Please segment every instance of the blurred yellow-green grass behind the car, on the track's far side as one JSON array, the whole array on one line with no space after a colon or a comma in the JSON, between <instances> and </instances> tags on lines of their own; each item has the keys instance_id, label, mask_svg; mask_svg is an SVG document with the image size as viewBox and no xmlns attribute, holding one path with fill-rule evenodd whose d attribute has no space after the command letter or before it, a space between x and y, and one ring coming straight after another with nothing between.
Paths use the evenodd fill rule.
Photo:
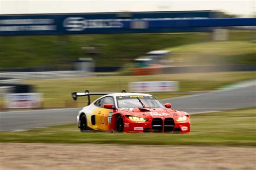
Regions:
<instances>
[{"instance_id":1,"label":"blurred yellow-green grass behind the car, on the track's far side","mask_svg":"<svg viewBox=\"0 0 256 170\"><path fill-rule=\"evenodd\" d=\"M86 97L79 97L77 101L73 101L71 98L72 91L118 92L122 89L129 91L129 82L132 81L179 81L180 91L178 93L151 93L157 98L163 99L185 95L186 91L214 90L238 81L255 79L255 77L256 72L219 72L27 80L24 83L34 84L37 92L43 93L45 108L63 108L83 107L85 105ZM119 80L121 82L120 88ZM92 97L92 100L95 99L96 97Z\"/></svg>"}]
</instances>

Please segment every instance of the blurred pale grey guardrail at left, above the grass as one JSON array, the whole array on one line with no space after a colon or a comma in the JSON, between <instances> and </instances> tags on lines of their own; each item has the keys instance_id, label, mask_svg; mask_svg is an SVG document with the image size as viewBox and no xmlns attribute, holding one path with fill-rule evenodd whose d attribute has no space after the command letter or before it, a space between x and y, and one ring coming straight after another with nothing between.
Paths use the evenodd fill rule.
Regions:
<instances>
[{"instance_id":1,"label":"blurred pale grey guardrail at left, above the grass","mask_svg":"<svg viewBox=\"0 0 256 170\"><path fill-rule=\"evenodd\" d=\"M86 77L86 76L90 76L90 74L84 71L0 73L0 77L7 77L11 79L53 79L53 78Z\"/></svg>"}]
</instances>

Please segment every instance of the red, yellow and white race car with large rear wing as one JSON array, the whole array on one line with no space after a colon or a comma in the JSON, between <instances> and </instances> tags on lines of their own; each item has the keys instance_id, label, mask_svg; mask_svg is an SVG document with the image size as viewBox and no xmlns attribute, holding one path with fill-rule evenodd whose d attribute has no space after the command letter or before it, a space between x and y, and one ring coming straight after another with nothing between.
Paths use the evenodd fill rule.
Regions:
<instances>
[{"instance_id":1,"label":"red, yellow and white race car with large rear wing","mask_svg":"<svg viewBox=\"0 0 256 170\"><path fill-rule=\"evenodd\" d=\"M90 103L91 95L100 95ZM163 132L190 133L190 115L170 109L156 97L142 93L72 93L73 100L87 96L87 106L79 111L77 124L81 132Z\"/></svg>"}]
</instances>

